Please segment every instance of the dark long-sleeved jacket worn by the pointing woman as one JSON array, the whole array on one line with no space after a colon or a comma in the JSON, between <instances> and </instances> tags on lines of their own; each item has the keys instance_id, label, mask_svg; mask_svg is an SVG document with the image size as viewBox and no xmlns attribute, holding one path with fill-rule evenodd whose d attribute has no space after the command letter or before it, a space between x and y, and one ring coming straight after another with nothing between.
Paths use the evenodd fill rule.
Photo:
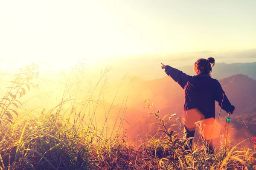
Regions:
<instances>
[{"instance_id":1,"label":"dark long-sleeved jacket worn by the pointing woman","mask_svg":"<svg viewBox=\"0 0 256 170\"><path fill-rule=\"evenodd\" d=\"M221 84L209 74L189 76L169 65L166 65L165 72L185 90L184 118L188 117L187 111L193 108L198 109L205 119L215 118L215 100L224 111L233 113L235 110Z\"/></svg>"}]
</instances>

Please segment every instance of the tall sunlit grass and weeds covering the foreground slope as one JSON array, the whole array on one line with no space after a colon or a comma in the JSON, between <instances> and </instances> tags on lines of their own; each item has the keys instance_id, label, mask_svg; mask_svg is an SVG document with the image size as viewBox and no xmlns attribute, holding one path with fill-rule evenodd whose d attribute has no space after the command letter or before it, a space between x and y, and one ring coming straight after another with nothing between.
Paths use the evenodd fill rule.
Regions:
<instances>
[{"instance_id":1,"label":"tall sunlit grass and weeds covering the foreground slope","mask_svg":"<svg viewBox=\"0 0 256 170\"><path fill-rule=\"evenodd\" d=\"M90 84L87 95L81 97L81 82L85 81L86 75L78 65L71 76L61 82L64 90L60 93L59 104L50 109L43 108L36 116L31 113L23 120L18 118L24 103L17 97L26 95L31 87L38 88L33 83L38 78L38 66L32 64L20 70L1 101L0 170L219 170L253 169L255 166L256 153L253 153L253 147L242 145L243 142L231 146L230 141L224 159L223 146L215 148L215 155L209 155L206 144L199 141L185 150L189 139L184 137L180 118L176 114L162 117L160 111L154 110L150 114L157 122L152 126L158 125L157 131L162 135L141 140L136 147L128 141L123 130L128 94L122 100L116 119L112 125L110 123L111 109L120 87L128 80L126 75L113 94L110 108L105 107L104 113L97 114L99 105L104 105L102 99L108 86L109 71L110 67L102 70L98 81ZM154 103L145 102L146 107L154 108ZM27 108L26 113L29 111ZM103 120L99 123L97 116L100 115Z\"/></svg>"}]
</instances>

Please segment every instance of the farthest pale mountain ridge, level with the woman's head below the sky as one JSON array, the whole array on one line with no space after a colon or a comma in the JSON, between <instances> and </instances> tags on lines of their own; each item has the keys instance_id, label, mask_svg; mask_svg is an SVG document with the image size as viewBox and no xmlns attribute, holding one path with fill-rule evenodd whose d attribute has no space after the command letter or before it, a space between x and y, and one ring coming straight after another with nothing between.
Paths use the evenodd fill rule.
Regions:
<instances>
[{"instance_id":1,"label":"farthest pale mountain ridge, level with the woman's head below the sky","mask_svg":"<svg viewBox=\"0 0 256 170\"><path fill-rule=\"evenodd\" d=\"M140 60L139 60L140 61ZM134 61L133 64L130 62L127 63L120 63L120 65L113 67L113 75L114 77L122 77L123 74L129 73L129 76L136 76L140 77L143 80L154 80L158 78L163 78L165 74L161 69L161 64L158 60L151 61L149 60L146 63ZM196 60L195 60L196 61ZM166 60L163 61L165 65L171 65L174 68L177 68L188 75L195 75L194 66L193 64L195 61L191 61L190 65L184 67L176 67L172 65L171 61ZM159 62L159 63L158 63ZM184 63L183 65L186 65ZM215 63L215 66L212 68L212 77L215 79L224 79L226 77L232 76L234 74L244 74L248 75L249 77L256 79L256 62L248 62L248 63Z\"/></svg>"}]
</instances>

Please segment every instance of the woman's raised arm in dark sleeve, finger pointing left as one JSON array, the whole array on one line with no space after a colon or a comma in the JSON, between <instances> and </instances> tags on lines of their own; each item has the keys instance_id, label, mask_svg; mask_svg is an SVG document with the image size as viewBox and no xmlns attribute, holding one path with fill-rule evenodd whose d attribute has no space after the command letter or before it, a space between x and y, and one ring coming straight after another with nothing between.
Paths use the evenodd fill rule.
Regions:
<instances>
[{"instance_id":1,"label":"woman's raised arm in dark sleeve, finger pointing left","mask_svg":"<svg viewBox=\"0 0 256 170\"><path fill-rule=\"evenodd\" d=\"M174 81L177 82L183 89L185 88L185 85L192 77L192 76L189 76L189 75L183 73L182 71L180 71L176 68L172 68L169 65L162 64L162 69L165 69L166 74L168 76L172 77L172 79L174 79Z\"/></svg>"}]
</instances>

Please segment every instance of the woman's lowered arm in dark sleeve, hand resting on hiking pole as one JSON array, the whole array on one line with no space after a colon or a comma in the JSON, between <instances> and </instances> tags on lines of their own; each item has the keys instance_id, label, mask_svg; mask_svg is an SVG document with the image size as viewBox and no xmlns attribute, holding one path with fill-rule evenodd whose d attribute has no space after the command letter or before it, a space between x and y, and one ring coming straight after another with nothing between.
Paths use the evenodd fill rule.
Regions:
<instances>
[{"instance_id":1,"label":"woman's lowered arm in dark sleeve, hand resting on hiking pole","mask_svg":"<svg viewBox=\"0 0 256 170\"><path fill-rule=\"evenodd\" d=\"M216 80L217 89L215 91L215 100L218 102L218 105L227 113L233 113L235 106L231 105L230 101L227 99L226 94L221 87L221 84ZM224 96L223 96L224 95Z\"/></svg>"}]
</instances>

